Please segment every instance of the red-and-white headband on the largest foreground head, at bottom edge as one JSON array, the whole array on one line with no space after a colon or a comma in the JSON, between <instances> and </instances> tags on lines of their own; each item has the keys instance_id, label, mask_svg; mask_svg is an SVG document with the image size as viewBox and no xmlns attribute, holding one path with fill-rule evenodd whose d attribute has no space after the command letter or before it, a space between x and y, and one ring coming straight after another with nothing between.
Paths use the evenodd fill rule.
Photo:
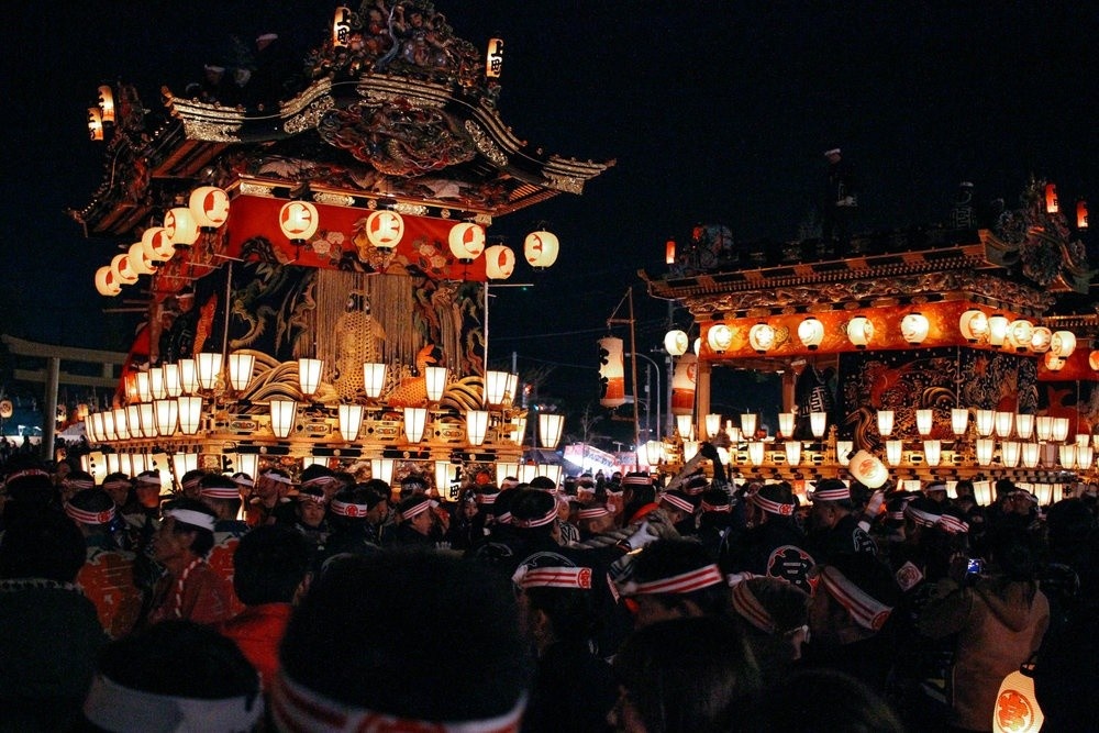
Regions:
<instances>
[{"instance_id":1,"label":"red-and-white headband on the largest foreground head, at bottom edge","mask_svg":"<svg viewBox=\"0 0 1099 733\"><path fill-rule=\"evenodd\" d=\"M411 720L338 702L295 682L282 670L271 685L271 717L280 731L346 733L518 733L526 696L502 715L487 720Z\"/></svg>"}]
</instances>

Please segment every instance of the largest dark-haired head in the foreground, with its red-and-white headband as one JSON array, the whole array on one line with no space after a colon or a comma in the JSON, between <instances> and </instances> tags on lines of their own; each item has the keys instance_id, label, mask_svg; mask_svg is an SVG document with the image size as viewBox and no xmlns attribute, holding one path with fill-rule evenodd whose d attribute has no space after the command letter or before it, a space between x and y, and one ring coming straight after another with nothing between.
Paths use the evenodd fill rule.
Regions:
<instances>
[{"instance_id":1,"label":"largest dark-haired head in the foreground, with its red-and-white headband","mask_svg":"<svg viewBox=\"0 0 1099 733\"><path fill-rule=\"evenodd\" d=\"M290 618L279 658L271 719L288 732L515 733L533 671L499 576L413 549L333 562Z\"/></svg>"}]
</instances>

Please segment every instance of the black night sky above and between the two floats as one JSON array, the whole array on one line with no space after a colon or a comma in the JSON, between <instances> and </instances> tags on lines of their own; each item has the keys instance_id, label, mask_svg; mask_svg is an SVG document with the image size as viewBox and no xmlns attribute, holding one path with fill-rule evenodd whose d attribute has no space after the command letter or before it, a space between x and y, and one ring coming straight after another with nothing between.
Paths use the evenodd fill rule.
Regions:
<instances>
[{"instance_id":1,"label":"black night sky above and between the two floats","mask_svg":"<svg viewBox=\"0 0 1099 733\"><path fill-rule=\"evenodd\" d=\"M18 3L2 30L7 156L3 326L25 338L124 349L134 316L96 293L120 242L86 240L64 214L91 198L103 146L87 138L99 84L197 80L230 33L279 33L302 49L337 3L92 0ZM545 224L562 244L530 289L498 289L493 357L556 363L547 389L598 396L595 340L633 285L639 348L667 307L637 269L696 223L739 241L796 238L822 198L824 149L862 181L856 229L946 220L957 185L1009 206L1031 176L1099 208L1090 3L551 2L439 0L455 33L507 43L499 110L517 135L615 167L489 230L513 248ZM12 14L13 13L13 14ZM129 243L126 243L129 244ZM677 311L678 325L689 322ZM617 335L625 335L621 327ZM522 366L522 365L521 365ZM582 367L582 368L577 368Z\"/></svg>"}]
</instances>

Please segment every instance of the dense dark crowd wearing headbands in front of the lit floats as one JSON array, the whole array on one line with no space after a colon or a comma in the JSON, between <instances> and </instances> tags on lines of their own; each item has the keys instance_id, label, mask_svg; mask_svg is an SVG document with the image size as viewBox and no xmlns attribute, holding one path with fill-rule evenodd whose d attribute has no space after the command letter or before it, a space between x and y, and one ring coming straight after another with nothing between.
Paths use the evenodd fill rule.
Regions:
<instances>
[{"instance_id":1,"label":"dense dark crowd wearing headbands in front of the lit floats","mask_svg":"<svg viewBox=\"0 0 1099 733\"><path fill-rule=\"evenodd\" d=\"M1094 730L1095 487L9 462L0 729ZM998 699L998 696L1000 699ZM1036 730L1036 729L1035 729Z\"/></svg>"}]
</instances>

